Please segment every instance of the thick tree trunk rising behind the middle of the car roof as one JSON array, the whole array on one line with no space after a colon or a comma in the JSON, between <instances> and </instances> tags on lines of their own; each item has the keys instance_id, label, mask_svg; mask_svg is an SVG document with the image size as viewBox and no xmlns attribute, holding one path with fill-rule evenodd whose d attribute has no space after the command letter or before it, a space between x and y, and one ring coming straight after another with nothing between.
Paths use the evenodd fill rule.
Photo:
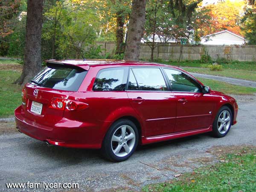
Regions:
<instances>
[{"instance_id":1,"label":"thick tree trunk rising behind the middle of the car roof","mask_svg":"<svg viewBox=\"0 0 256 192\"><path fill-rule=\"evenodd\" d=\"M143 37L146 0L133 0L128 26L125 60L139 60L140 40Z\"/></svg>"}]
</instances>

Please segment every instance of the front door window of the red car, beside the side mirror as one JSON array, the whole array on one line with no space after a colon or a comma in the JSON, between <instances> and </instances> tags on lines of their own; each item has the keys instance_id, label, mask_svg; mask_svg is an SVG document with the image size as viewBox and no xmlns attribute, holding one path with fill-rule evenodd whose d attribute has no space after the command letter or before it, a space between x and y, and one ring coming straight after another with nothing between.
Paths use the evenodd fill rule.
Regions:
<instances>
[{"instance_id":1,"label":"front door window of the red car, beside the side mirror","mask_svg":"<svg viewBox=\"0 0 256 192\"><path fill-rule=\"evenodd\" d=\"M177 70L164 69L171 83L172 91L201 92L197 81Z\"/></svg>"}]
</instances>

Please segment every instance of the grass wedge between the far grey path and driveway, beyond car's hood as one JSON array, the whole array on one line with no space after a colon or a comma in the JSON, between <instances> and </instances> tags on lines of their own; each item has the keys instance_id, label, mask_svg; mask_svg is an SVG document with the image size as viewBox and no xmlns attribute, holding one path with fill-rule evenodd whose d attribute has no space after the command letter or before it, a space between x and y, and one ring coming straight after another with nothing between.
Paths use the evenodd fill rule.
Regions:
<instances>
[{"instance_id":1,"label":"grass wedge between the far grey path and driveway, beyond car's hood","mask_svg":"<svg viewBox=\"0 0 256 192\"><path fill-rule=\"evenodd\" d=\"M198 80L204 85L209 86L212 90L220 91L225 94L252 95L256 93L256 88L253 87L243 87L212 79L198 78Z\"/></svg>"}]
</instances>

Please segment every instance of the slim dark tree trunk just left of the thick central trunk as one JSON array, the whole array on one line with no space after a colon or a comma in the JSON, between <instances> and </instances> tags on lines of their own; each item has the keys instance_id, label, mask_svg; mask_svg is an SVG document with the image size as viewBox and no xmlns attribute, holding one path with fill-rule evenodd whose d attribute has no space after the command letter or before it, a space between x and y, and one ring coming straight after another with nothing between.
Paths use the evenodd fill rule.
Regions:
<instances>
[{"instance_id":1,"label":"slim dark tree trunk just left of the thick central trunk","mask_svg":"<svg viewBox=\"0 0 256 192\"><path fill-rule=\"evenodd\" d=\"M116 17L116 54L124 52L124 20L122 18L122 12L117 13Z\"/></svg>"}]
</instances>

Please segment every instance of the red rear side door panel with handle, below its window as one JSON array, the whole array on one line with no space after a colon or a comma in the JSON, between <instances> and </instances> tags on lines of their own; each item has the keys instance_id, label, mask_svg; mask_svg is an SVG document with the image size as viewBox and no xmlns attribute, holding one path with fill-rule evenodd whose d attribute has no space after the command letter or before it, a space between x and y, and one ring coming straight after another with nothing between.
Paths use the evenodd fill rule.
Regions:
<instances>
[{"instance_id":1,"label":"red rear side door panel with handle, below its window","mask_svg":"<svg viewBox=\"0 0 256 192\"><path fill-rule=\"evenodd\" d=\"M173 133L175 128L176 101L169 91L128 91L131 106L141 117L145 127L144 136ZM133 99L143 98L142 102Z\"/></svg>"}]
</instances>

